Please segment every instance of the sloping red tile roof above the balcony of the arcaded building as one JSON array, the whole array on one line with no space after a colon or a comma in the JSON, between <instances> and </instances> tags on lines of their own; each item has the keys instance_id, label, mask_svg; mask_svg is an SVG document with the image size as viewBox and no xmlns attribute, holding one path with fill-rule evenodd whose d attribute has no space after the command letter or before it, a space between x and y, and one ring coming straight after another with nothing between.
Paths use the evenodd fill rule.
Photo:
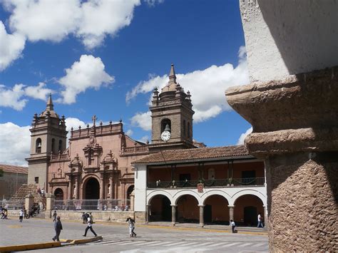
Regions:
<instances>
[{"instance_id":1,"label":"sloping red tile roof above the balcony of the arcaded building","mask_svg":"<svg viewBox=\"0 0 338 253\"><path fill-rule=\"evenodd\" d=\"M158 163L173 162L183 160L203 160L210 158L230 158L250 156L244 145L226 146L217 148L191 148L186 150L164 150L155 154L148 155L145 158L135 160L132 163ZM252 157L253 158L253 157Z\"/></svg>"}]
</instances>

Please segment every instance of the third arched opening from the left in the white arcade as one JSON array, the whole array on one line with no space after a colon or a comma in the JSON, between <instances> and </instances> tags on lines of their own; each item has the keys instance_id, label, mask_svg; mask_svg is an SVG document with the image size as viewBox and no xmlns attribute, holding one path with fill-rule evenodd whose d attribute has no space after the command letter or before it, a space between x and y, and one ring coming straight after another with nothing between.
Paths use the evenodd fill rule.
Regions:
<instances>
[{"instance_id":1,"label":"third arched opening from the left in the white arcade","mask_svg":"<svg viewBox=\"0 0 338 253\"><path fill-rule=\"evenodd\" d=\"M211 195L204 202L204 222L206 224L229 224L229 203L221 195Z\"/></svg>"}]
</instances>

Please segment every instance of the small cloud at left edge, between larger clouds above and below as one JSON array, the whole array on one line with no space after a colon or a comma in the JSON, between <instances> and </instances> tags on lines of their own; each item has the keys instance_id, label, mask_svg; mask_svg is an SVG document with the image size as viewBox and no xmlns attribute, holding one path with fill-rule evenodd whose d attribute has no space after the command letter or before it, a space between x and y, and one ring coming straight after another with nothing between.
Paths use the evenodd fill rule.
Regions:
<instances>
[{"instance_id":1,"label":"small cloud at left edge, between larger clouds above and below","mask_svg":"<svg viewBox=\"0 0 338 253\"><path fill-rule=\"evenodd\" d=\"M22 110L28 101L22 98L24 93L24 85L22 83L16 84L13 88L6 88L6 86L0 84L0 106Z\"/></svg>"}]
</instances>

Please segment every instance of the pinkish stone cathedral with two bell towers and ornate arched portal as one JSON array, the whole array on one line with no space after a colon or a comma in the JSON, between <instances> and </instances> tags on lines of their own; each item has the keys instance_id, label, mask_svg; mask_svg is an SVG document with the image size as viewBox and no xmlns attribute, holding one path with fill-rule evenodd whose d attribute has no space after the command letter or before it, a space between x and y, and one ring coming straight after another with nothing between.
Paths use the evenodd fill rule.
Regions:
<instances>
[{"instance_id":1,"label":"pinkish stone cathedral with two bell towers and ornate arched portal","mask_svg":"<svg viewBox=\"0 0 338 253\"><path fill-rule=\"evenodd\" d=\"M31 123L28 183L38 185L56 200L101 200L128 205L134 190L132 162L160 150L198 148L193 141L193 105L189 91L176 81L173 64L168 85L155 88L152 105L152 141L141 143L123 132L123 123L96 122L71 128L54 110L51 95L46 109ZM109 202L111 201L111 202ZM108 205L113 206L113 205Z\"/></svg>"}]
</instances>

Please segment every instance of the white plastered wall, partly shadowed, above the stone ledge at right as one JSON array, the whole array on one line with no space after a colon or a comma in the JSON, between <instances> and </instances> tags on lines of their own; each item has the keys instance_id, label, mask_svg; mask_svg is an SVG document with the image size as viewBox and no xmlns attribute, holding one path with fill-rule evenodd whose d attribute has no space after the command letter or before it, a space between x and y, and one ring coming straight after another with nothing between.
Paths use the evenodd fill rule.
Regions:
<instances>
[{"instance_id":1,"label":"white plastered wall, partly shadowed, above the stone ledge at right","mask_svg":"<svg viewBox=\"0 0 338 253\"><path fill-rule=\"evenodd\" d=\"M250 81L338 65L338 1L240 0Z\"/></svg>"}]
</instances>

